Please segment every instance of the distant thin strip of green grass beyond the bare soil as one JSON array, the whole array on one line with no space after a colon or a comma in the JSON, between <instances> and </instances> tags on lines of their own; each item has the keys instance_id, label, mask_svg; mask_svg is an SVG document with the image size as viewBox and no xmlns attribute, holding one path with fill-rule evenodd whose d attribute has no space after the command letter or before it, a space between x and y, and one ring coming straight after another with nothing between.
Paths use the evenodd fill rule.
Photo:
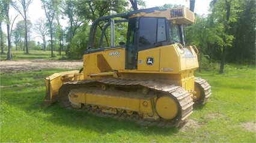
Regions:
<instances>
[{"instance_id":1,"label":"distant thin strip of green grass beyond the bare soil","mask_svg":"<svg viewBox=\"0 0 256 143\"><path fill-rule=\"evenodd\" d=\"M24 51L11 51L13 55L12 60L33 60L33 59L66 59L65 52L62 51L62 55L59 55L58 51L53 51L53 56L51 57L51 51L43 51L43 50L29 50L29 54L25 54ZM1 54L0 60L7 59L7 54Z\"/></svg>"}]
</instances>

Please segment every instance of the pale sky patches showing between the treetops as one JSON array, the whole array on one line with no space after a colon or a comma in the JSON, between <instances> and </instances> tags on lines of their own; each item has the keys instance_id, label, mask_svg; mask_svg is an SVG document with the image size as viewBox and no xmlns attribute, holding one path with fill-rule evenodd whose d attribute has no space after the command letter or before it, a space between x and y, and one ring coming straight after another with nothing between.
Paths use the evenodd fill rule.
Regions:
<instances>
[{"instance_id":1,"label":"pale sky patches showing between the treetops","mask_svg":"<svg viewBox=\"0 0 256 143\"><path fill-rule=\"evenodd\" d=\"M158 7L162 6L164 4L181 4L184 5L185 7L189 8L189 0L144 0L146 2L147 8L151 7ZM195 10L194 12L200 15L207 14L207 10L209 8L209 3L212 0L195 0ZM11 7L10 8L10 13L9 16L11 20L14 19L14 17L17 16L17 12ZM40 17L45 18L44 10L41 8L41 1L40 0L34 0L31 5L29 5L29 10L28 10L28 19L31 20L32 23L35 23L37 19ZM18 16L15 20L13 29L15 28L16 22L19 22L20 20L23 20L22 16ZM62 25L64 27L67 26L66 20L62 20ZM6 32L5 32L6 33ZM36 35L35 35L36 36ZM31 39L33 40L33 39ZM39 37L34 38L35 41L41 41Z\"/></svg>"}]
</instances>

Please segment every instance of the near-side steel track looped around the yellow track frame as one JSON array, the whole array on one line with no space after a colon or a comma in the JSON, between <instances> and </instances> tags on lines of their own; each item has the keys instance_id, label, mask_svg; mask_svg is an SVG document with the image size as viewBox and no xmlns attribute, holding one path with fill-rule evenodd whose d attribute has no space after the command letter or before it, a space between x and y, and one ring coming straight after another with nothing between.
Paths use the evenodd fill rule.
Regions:
<instances>
[{"instance_id":1,"label":"near-side steel track looped around the yellow track frame","mask_svg":"<svg viewBox=\"0 0 256 143\"><path fill-rule=\"evenodd\" d=\"M139 114L129 115L126 112L118 112L117 114L107 114L101 112L99 108L85 108L86 111L94 115L99 115L100 117L112 117L117 119L134 120L136 123L142 126L157 126L157 127L172 127L180 126L184 123L187 117L192 114L193 104L190 94L180 86L169 85L165 83L157 83L156 81L139 81L139 80L123 80L120 78L104 78L100 80L84 80L84 81L70 81L64 83L59 89L58 102L62 108L67 108L72 106L69 102L69 91L72 89L87 88L87 87L99 87L101 84L106 84L111 87L121 87L121 88L137 88L141 89L147 87L156 93L161 93L164 95L172 96L172 98L177 99L179 105L178 116L172 120L164 120L163 118L158 118L157 120L147 120L142 118ZM99 87L99 90L100 87Z\"/></svg>"}]
</instances>

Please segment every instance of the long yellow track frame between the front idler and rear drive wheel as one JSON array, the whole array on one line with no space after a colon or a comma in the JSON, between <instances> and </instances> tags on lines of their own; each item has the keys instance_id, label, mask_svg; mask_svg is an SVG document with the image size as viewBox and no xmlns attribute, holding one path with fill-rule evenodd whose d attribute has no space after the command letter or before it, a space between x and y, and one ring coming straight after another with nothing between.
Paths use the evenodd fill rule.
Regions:
<instances>
[{"instance_id":1,"label":"long yellow track frame between the front idler and rear drive wheel","mask_svg":"<svg viewBox=\"0 0 256 143\"><path fill-rule=\"evenodd\" d=\"M88 90L90 92L88 92ZM143 96L132 96L126 92L105 92L97 88L73 89L69 93L69 101L73 105L100 105L102 107L118 108L136 112L153 114L151 99Z\"/></svg>"}]
</instances>

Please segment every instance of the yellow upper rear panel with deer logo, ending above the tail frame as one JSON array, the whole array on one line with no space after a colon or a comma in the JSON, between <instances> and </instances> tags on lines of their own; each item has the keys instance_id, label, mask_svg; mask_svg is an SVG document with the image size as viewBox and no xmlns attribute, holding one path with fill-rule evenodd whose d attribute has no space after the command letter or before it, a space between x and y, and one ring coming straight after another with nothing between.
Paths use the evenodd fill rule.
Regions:
<instances>
[{"instance_id":1,"label":"yellow upper rear panel with deer logo, ending above the tail frame","mask_svg":"<svg viewBox=\"0 0 256 143\"><path fill-rule=\"evenodd\" d=\"M176 44L151 48L138 52L138 70L120 69L127 73L181 74L181 71L198 68L197 54L192 47L187 47L193 55L185 56L184 50ZM147 58L153 57L154 64L147 65ZM171 75L170 75L171 76Z\"/></svg>"}]
</instances>

